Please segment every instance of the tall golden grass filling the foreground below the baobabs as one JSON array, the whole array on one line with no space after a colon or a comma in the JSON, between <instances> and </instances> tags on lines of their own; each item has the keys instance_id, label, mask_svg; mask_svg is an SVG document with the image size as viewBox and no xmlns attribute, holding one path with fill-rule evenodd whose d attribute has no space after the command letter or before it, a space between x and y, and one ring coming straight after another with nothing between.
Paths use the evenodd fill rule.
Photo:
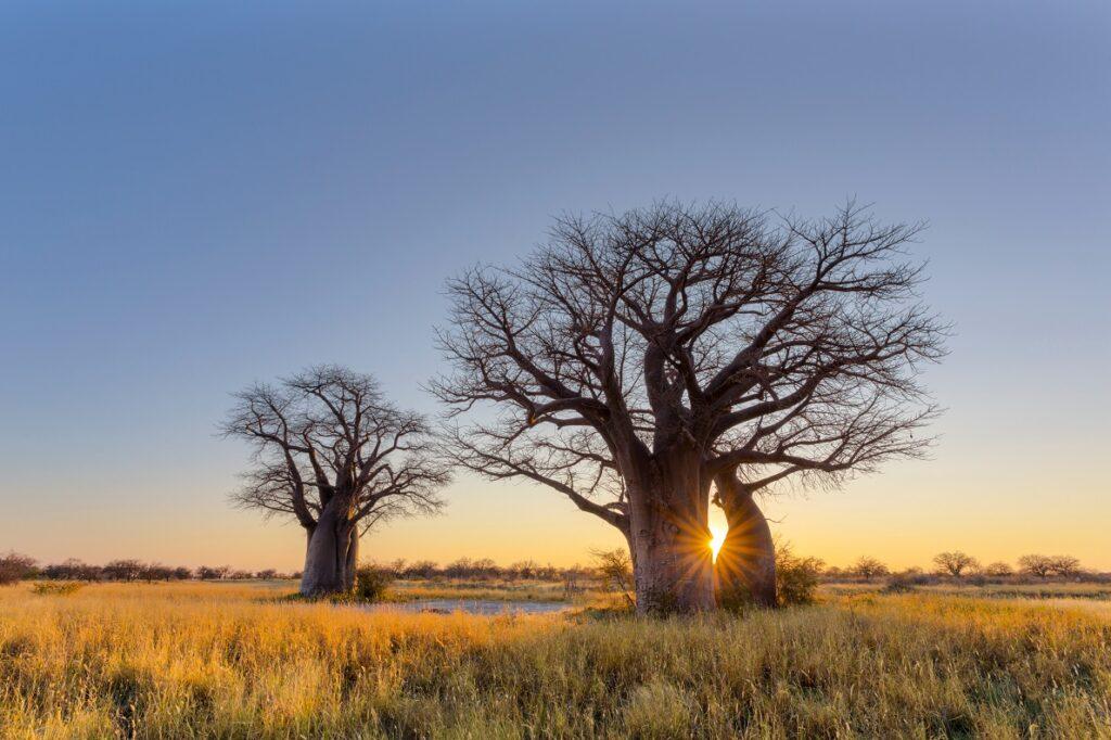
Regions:
<instances>
[{"instance_id":1,"label":"tall golden grass filling the foreground below the baobabs","mask_svg":"<svg viewBox=\"0 0 1111 740\"><path fill-rule=\"evenodd\" d=\"M2 737L1111 737L1111 613L861 594L742 618L368 614L0 589Z\"/></svg>"}]
</instances>

